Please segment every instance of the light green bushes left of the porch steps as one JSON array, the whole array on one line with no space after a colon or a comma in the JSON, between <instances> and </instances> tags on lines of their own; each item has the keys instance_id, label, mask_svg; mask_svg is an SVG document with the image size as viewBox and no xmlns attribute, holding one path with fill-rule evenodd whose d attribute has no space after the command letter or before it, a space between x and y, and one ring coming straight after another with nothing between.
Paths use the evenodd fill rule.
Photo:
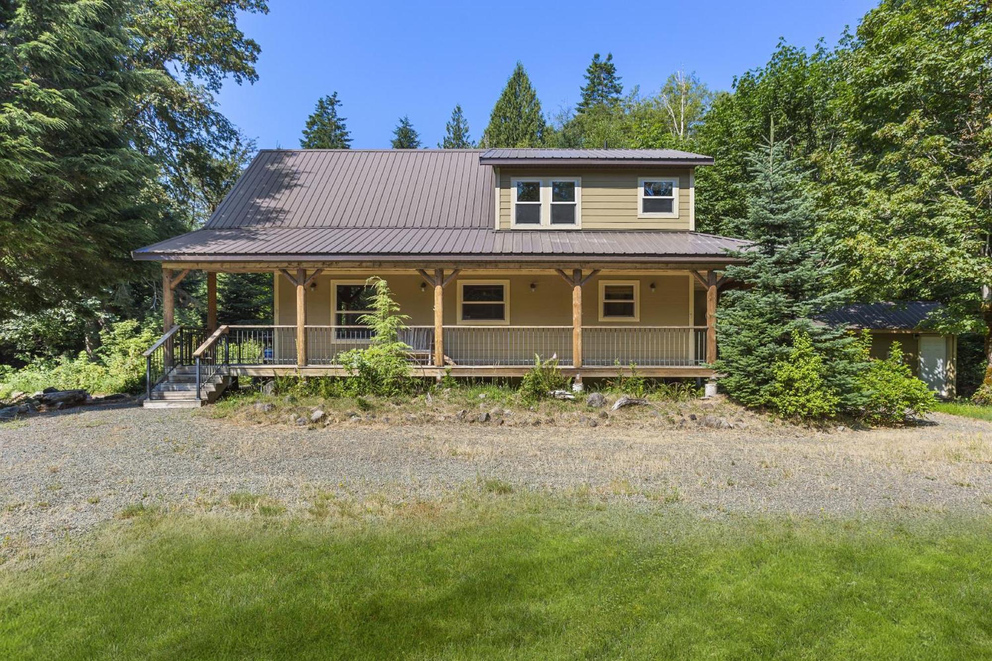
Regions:
<instances>
[{"instance_id":1,"label":"light green bushes left of the porch steps","mask_svg":"<svg viewBox=\"0 0 992 661\"><path fill-rule=\"evenodd\" d=\"M138 392L145 382L142 353L156 340L156 331L142 329L137 321L117 322L100 331L100 346L93 358L80 352L74 357L38 361L16 371L7 370L0 397L11 392L43 388L83 388L93 393Z\"/></svg>"}]
</instances>

